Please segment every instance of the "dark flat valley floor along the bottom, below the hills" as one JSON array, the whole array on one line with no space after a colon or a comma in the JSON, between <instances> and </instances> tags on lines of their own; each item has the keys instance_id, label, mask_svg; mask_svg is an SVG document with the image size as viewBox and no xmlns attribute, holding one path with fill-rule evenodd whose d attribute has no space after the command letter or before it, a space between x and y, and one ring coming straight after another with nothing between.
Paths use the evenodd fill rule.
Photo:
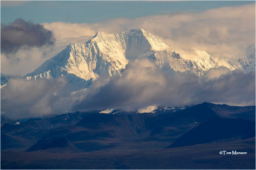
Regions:
<instances>
[{"instance_id":1,"label":"dark flat valley floor along the bottom, below the hills","mask_svg":"<svg viewBox=\"0 0 256 170\"><path fill-rule=\"evenodd\" d=\"M255 169L255 138L158 150L2 152L1 169Z\"/></svg>"}]
</instances>

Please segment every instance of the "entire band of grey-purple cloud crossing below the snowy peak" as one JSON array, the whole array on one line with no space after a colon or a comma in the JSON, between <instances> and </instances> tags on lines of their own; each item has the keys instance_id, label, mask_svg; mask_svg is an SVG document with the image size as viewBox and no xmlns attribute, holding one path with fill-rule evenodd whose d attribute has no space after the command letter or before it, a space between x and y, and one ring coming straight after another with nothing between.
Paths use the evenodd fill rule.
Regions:
<instances>
[{"instance_id":1,"label":"entire band of grey-purple cloud crossing below the snowy peak","mask_svg":"<svg viewBox=\"0 0 256 170\"><path fill-rule=\"evenodd\" d=\"M10 79L1 89L1 113L10 118L42 117L68 111L148 106L184 106L203 102L255 104L255 73L210 69L198 79L193 74L170 75L150 60L129 62L122 76L99 78L92 87L67 92L67 81Z\"/></svg>"}]
</instances>

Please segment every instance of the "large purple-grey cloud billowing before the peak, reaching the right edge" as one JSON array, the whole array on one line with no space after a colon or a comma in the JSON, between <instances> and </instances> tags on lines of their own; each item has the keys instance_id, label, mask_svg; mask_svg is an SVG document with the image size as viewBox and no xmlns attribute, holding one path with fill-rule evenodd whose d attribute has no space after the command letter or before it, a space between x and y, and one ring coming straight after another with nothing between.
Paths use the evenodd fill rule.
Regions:
<instances>
[{"instance_id":1,"label":"large purple-grey cloud billowing before the peak, reaching the right edge","mask_svg":"<svg viewBox=\"0 0 256 170\"><path fill-rule=\"evenodd\" d=\"M147 59L127 65L122 76L112 77L102 87L90 91L74 110L122 108L138 110L147 106L187 104L255 103L255 73L210 69L198 79L190 73L170 76Z\"/></svg>"}]
</instances>

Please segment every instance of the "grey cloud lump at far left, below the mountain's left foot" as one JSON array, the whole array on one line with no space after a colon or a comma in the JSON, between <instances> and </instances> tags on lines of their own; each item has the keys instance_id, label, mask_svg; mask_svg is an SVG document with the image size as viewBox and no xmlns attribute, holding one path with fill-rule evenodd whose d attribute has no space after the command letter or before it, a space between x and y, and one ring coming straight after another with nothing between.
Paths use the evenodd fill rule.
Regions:
<instances>
[{"instance_id":1,"label":"grey cloud lump at far left, below the mountain's left foot","mask_svg":"<svg viewBox=\"0 0 256 170\"><path fill-rule=\"evenodd\" d=\"M63 78L52 81L10 78L1 89L1 115L16 119L67 111L66 94L61 92L66 83Z\"/></svg>"}]
</instances>

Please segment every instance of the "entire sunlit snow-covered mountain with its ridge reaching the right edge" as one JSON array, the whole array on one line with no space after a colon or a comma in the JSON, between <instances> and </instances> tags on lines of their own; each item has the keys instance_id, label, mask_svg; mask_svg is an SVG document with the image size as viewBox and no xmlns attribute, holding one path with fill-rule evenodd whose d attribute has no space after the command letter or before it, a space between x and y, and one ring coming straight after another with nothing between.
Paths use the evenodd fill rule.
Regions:
<instances>
[{"instance_id":1,"label":"entire sunlit snow-covered mountain with its ridge reaching the right edge","mask_svg":"<svg viewBox=\"0 0 256 170\"><path fill-rule=\"evenodd\" d=\"M188 59L180 56L178 52L173 52L163 40L143 29L119 34L98 32L86 43L71 43L25 77L27 80L33 80L65 76L68 83L79 90L90 87L92 81L99 76L121 74L129 61L142 58L152 60L163 71L190 71L198 76L220 66L230 70L251 71L255 69L253 47L248 50L247 58L237 62L227 62L195 48L193 52L197 56Z\"/></svg>"}]
</instances>

